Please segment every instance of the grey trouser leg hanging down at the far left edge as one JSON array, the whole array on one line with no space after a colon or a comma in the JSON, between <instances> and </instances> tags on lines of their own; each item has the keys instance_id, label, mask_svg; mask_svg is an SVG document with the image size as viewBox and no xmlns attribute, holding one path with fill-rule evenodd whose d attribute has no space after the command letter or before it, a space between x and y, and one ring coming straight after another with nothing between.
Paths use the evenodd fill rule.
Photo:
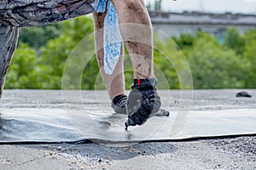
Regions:
<instances>
[{"instance_id":1,"label":"grey trouser leg hanging down at the far left edge","mask_svg":"<svg viewBox=\"0 0 256 170\"><path fill-rule=\"evenodd\" d=\"M20 29L0 23L0 98L10 61L17 45Z\"/></svg>"}]
</instances>

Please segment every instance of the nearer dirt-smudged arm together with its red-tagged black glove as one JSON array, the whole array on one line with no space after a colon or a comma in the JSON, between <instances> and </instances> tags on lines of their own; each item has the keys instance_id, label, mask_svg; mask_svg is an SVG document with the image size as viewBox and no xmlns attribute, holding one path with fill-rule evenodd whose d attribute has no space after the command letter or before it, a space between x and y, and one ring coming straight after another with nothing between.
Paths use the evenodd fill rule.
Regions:
<instances>
[{"instance_id":1,"label":"nearer dirt-smudged arm together with its red-tagged black glove","mask_svg":"<svg viewBox=\"0 0 256 170\"><path fill-rule=\"evenodd\" d=\"M134 85L128 97L128 121L125 126L142 125L160 110L161 105L153 70L151 22L143 0L112 2L119 16L120 33L134 71Z\"/></svg>"}]
</instances>

